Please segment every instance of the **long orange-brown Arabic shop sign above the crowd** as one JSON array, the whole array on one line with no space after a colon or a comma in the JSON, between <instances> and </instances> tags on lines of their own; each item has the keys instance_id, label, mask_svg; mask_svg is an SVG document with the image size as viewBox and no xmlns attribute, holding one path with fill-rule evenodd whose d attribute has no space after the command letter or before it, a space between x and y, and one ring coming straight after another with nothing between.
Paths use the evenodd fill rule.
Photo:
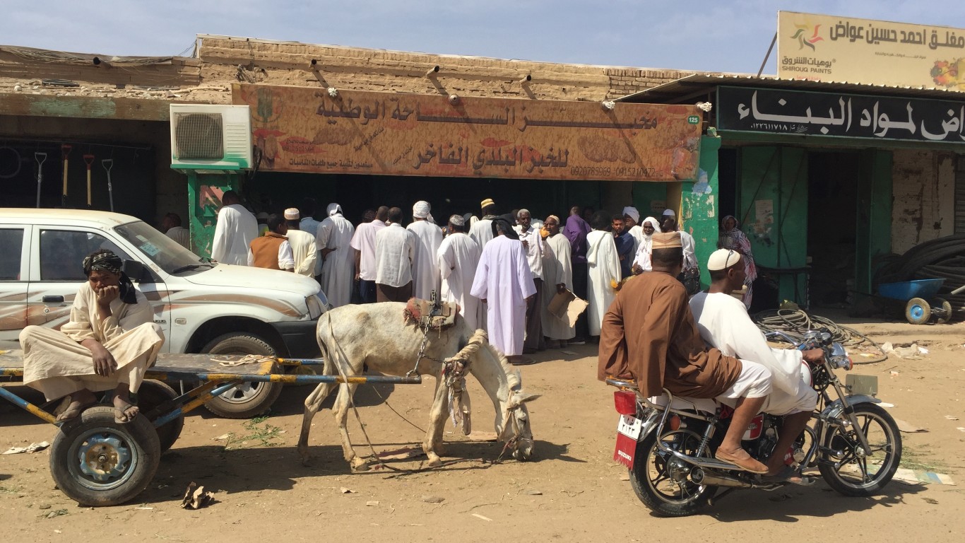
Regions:
<instances>
[{"instance_id":1,"label":"long orange-brown Arabic shop sign above the crowd","mask_svg":"<svg viewBox=\"0 0 965 543\"><path fill-rule=\"evenodd\" d=\"M240 85L261 169L438 177L697 177L692 105L506 100Z\"/></svg>"}]
</instances>

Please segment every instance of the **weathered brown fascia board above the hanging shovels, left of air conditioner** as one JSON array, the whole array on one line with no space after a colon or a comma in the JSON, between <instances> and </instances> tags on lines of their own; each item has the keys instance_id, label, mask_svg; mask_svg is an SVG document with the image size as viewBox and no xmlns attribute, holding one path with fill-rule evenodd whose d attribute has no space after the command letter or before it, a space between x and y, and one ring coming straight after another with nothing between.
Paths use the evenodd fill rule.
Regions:
<instances>
[{"instance_id":1,"label":"weathered brown fascia board above the hanging shovels, left of air conditioner","mask_svg":"<svg viewBox=\"0 0 965 543\"><path fill-rule=\"evenodd\" d=\"M185 100L0 94L0 115L167 122L169 104L183 102Z\"/></svg>"}]
</instances>

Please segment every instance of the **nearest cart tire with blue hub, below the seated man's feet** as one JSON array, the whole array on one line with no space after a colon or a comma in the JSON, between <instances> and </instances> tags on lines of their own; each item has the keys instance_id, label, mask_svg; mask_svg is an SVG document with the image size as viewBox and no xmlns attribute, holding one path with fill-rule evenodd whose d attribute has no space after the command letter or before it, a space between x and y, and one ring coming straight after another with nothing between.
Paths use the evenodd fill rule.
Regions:
<instances>
[{"instance_id":1,"label":"nearest cart tire with blue hub, below the seated man's feet","mask_svg":"<svg viewBox=\"0 0 965 543\"><path fill-rule=\"evenodd\" d=\"M79 505L119 505L148 488L160 456L147 417L119 424L113 406L96 406L61 427L50 447L50 474Z\"/></svg>"}]
</instances>

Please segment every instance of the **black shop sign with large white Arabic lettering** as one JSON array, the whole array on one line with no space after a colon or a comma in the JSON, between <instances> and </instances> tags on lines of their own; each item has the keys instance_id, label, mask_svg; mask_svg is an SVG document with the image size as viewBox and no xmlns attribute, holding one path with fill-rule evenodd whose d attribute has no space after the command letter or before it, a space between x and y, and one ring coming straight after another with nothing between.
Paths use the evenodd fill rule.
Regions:
<instances>
[{"instance_id":1,"label":"black shop sign with large white Arabic lettering","mask_svg":"<svg viewBox=\"0 0 965 543\"><path fill-rule=\"evenodd\" d=\"M717 129L965 142L965 102L720 87Z\"/></svg>"}]
</instances>

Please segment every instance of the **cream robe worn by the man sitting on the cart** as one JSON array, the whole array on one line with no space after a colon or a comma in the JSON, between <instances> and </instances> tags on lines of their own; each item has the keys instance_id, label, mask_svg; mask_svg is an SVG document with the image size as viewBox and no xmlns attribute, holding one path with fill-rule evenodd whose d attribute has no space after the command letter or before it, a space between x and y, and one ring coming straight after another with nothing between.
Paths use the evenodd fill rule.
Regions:
<instances>
[{"instance_id":1,"label":"cream robe worn by the man sitting on the cart","mask_svg":"<svg viewBox=\"0 0 965 543\"><path fill-rule=\"evenodd\" d=\"M136 303L111 301L111 316L101 320L91 283L85 282L70 307L70 320L60 330L27 327L20 332L23 383L43 392L48 400L87 388L110 390L126 383L137 392L144 372L164 345L164 333L154 324L151 303L139 291ZM118 363L112 375L94 373L91 351L80 344L96 339Z\"/></svg>"}]
</instances>

